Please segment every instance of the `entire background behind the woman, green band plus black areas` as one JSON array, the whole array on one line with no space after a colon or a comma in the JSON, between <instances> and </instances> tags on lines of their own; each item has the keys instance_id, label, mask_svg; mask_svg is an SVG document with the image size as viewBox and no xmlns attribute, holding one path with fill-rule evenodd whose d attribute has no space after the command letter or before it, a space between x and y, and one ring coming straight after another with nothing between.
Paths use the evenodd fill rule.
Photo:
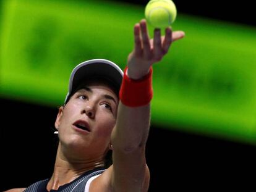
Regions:
<instances>
[{"instance_id":1,"label":"entire background behind the woman, green band plus black areas","mask_svg":"<svg viewBox=\"0 0 256 192\"><path fill-rule=\"evenodd\" d=\"M0 2L0 136L2 165L8 167L2 169L2 191L51 175L54 120L71 70L95 58L124 69L134 24L144 18L148 1ZM186 38L154 65L146 154L150 191L159 186L198 190L202 183L230 190L243 178L248 186L256 172L252 1L174 3L172 28L184 30ZM153 28L148 30L152 36Z\"/></svg>"}]
</instances>

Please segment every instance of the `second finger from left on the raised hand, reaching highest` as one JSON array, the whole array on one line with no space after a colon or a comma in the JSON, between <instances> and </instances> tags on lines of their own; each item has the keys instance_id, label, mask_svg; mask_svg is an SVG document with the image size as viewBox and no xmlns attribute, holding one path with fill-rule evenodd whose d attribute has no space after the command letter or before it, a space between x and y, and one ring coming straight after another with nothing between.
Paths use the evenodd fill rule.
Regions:
<instances>
[{"instance_id":1,"label":"second finger from left on the raised hand, reaching highest","mask_svg":"<svg viewBox=\"0 0 256 192\"><path fill-rule=\"evenodd\" d=\"M142 34L143 53L146 58L150 58L150 55L151 55L150 38L148 35L147 23L146 23L145 19L140 21L140 30L141 30L141 34Z\"/></svg>"}]
</instances>

